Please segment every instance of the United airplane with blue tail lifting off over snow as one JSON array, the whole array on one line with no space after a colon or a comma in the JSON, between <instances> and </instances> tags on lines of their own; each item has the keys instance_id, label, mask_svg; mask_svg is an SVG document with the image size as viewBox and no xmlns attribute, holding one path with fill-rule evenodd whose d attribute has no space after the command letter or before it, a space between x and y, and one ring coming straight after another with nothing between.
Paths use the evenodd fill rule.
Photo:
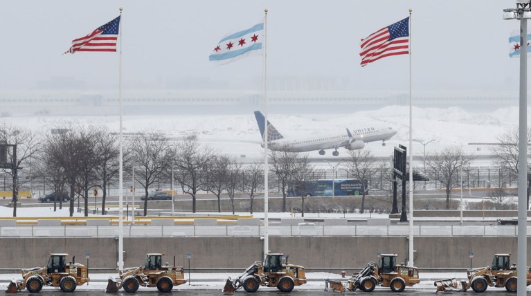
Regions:
<instances>
[{"instance_id":1,"label":"United airplane with blue tail lifting off over snow","mask_svg":"<svg viewBox=\"0 0 531 296\"><path fill-rule=\"evenodd\" d=\"M260 111L255 111L256 122L258 129L262 135L262 147L264 147L264 115ZM367 142L381 141L381 145L386 145L386 140L395 136L397 131L388 128L366 127L361 129L353 129L352 133L346 129L346 134L323 134L322 136L315 136L312 138L287 139L273 127L273 124L267 120L267 147L273 151L282 150L289 147L295 152L307 152L318 150L320 155L325 155L325 149L334 149L333 156L339 156L338 148L355 150L365 147Z\"/></svg>"}]
</instances>

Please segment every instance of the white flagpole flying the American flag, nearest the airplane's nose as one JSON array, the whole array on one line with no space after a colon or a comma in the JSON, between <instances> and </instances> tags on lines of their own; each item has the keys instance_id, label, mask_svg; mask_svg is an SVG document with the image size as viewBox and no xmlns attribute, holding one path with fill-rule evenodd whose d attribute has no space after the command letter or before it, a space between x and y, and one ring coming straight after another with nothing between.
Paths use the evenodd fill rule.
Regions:
<instances>
[{"instance_id":1,"label":"white flagpole flying the American flag, nearest the airplane's nose","mask_svg":"<svg viewBox=\"0 0 531 296\"><path fill-rule=\"evenodd\" d=\"M409 8L409 262L413 263L413 109L411 108L411 12Z\"/></svg>"}]
</instances>

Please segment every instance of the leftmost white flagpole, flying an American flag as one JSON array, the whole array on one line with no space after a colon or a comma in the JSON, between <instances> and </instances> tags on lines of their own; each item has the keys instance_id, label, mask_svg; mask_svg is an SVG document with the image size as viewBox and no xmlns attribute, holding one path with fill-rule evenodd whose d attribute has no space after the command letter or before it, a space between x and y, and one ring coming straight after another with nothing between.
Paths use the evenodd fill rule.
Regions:
<instances>
[{"instance_id":1,"label":"leftmost white flagpole, flying an American flag","mask_svg":"<svg viewBox=\"0 0 531 296\"><path fill-rule=\"evenodd\" d=\"M120 113L120 181L118 185L118 270L123 270L123 138L122 138L122 10L120 7L120 53L119 53L119 80L118 101ZM134 209L133 209L134 210Z\"/></svg>"}]
</instances>

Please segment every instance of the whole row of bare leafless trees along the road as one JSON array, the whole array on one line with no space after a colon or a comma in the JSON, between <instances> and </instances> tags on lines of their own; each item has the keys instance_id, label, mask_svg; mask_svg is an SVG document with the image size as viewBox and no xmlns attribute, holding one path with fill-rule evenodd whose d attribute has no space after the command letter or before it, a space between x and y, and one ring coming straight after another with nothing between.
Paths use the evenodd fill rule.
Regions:
<instances>
[{"instance_id":1,"label":"whole row of bare leafless trees along the road","mask_svg":"<svg viewBox=\"0 0 531 296\"><path fill-rule=\"evenodd\" d=\"M508 131L507 135L511 136L513 133ZM507 135L499 139L505 142L506 145L502 146L505 148ZM103 126L69 125L39 134L4 123L0 125L1 142L17 145L16 165L25 176L13 180L10 190L14 184L18 190L27 183L39 180L57 194L68 192L69 196L79 198L78 202L83 202L84 215L88 216L89 197L97 189L101 192L98 197L101 196L102 214L105 214L108 189L118 185L120 147L116 133L111 133ZM517 174L512 169L514 165L507 160L514 157L514 149L498 149L493 153L500 160L500 165L505 164L500 172L507 172L507 176ZM8 150L8 154L12 158L11 150ZM393 204L390 162L377 162L367 149L347 150L345 154L346 156L338 158L339 163L330 165L330 169L332 174L337 174L341 169L349 178L368 181L368 187L361 192L358 210L363 212L372 208L367 205L366 198L374 198L375 203L384 203L390 210ZM460 170L469 168L472 160L474 156L465 155L462 147L447 147L422 158L425 168L423 174L447 189L447 209L451 204L451 189L460 186ZM330 174L326 176L325 170L318 169L309 162L307 154L292 151L290 147L269 151L269 163L268 188L270 192L282 194L281 207L278 209L281 212L289 211L286 198L290 185L303 189L300 194L300 211L304 213L307 196L302 192L305 192L305 186L320 178L330 178ZM134 181L141 185L141 188L135 190L137 193L141 190L146 197L145 215L149 205L147 195L154 189L160 189L160 183L175 184L184 194L188 194L192 200L192 212L198 210L196 196L199 192L214 194L219 212L223 195L230 198L233 212L235 197L247 196L251 213L254 198L262 196L264 192L262 163L242 165L233 156L220 154L211 147L201 145L194 135L174 141L156 132L135 133L132 138L123 141L123 170L124 177L132 176L134 171ZM0 172L4 178L14 178L11 169L0 169ZM502 183L500 188L501 185ZM125 187L128 186L124 185ZM384 190L384 194L372 197L368 195L370 189ZM498 190L492 198L503 203L504 194ZM69 204L64 205L61 198L56 198L54 210L68 206L72 216L74 200L75 198L71 198ZM16 216L16 207L13 216Z\"/></svg>"}]
</instances>

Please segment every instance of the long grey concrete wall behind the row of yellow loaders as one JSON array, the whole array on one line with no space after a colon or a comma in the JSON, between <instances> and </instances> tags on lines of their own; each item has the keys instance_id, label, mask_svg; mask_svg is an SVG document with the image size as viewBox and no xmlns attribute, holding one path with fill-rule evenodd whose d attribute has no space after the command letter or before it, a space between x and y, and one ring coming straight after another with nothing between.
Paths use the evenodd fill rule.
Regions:
<instances>
[{"instance_id":1,"label":"long grey concrete wall behind the row of yellow loaders","mask_svg":"<svg viewBox=\"0 0 531 296\"><path fill-rule=\"evenodd\" d=\"M516 262L516 237L422 237L415 238L415 266L419 268L470 267L469 252L474 252L473 266L491 264L495 253L512 252ZM528 246L531 240L528 239ZM51 252L75 255L75 261L91 268L116 268L118 240L114 238L2 238L0 268L44 266ZM149 252L165 253L164 261L192 268L238 268L244 270L262 258L263 243L258 237L126 237L125 267L143 264ZM289 255L289 262L306 268L337 268L354 271L377 253L397 253L407 261L406 237L270 237L269 249ZM528 248L528 265L531 252ZM108 271L107 271L108 272Z\"/></svg>"}]
</instances>

